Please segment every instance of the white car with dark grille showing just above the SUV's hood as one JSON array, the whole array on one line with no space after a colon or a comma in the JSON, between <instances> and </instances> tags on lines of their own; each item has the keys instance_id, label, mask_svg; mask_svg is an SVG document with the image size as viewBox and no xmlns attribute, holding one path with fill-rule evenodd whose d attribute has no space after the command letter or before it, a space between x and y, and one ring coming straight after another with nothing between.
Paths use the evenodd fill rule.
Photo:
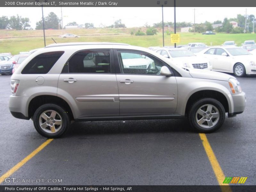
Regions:
<instances>
[{"instance_id":1,"label":"white car with dark grille showing just above the SUV's hood","mask_svg":"<svg viewBox=\"0 0 256 192\"><path fill-rule=\"evenodd\" d=\"M193 52L184 48L161 48L156 50L156 52L166 58L170 58L173 63L180 67L212 70L209 60L196 56Z\"/></svg>"}]
</instances>

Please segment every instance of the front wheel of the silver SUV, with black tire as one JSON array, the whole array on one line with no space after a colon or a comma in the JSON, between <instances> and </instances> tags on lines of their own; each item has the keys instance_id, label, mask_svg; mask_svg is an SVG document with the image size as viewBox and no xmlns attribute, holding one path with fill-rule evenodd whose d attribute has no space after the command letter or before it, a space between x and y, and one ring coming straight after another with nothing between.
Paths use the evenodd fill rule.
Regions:
<instances>
[{"instance_id":1,"label":"front wheel of the silver SUV, with black tire","mask_svg":"<svg viewBox=\"0 0 256 192\"><path fill-rule=\"evenodd\" d=\"M202 109L202 111L199 111L199 109ZM209 110L207 111L207 109ZM199 113L202 113L202 115L200 115ZM218 114L219 117L217 117ZM191 105L190 111L188 112L188 120L190 125L197 132L214 132L221 127L225 120L225 109L223 105L216 99L200 99Z\"/></svg>"}]
</instances>

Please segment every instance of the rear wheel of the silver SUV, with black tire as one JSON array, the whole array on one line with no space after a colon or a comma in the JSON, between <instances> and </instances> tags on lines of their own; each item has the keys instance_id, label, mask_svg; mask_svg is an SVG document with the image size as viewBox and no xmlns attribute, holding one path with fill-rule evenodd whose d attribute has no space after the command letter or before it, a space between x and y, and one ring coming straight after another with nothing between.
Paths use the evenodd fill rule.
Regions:
<instances>
[{"instance_id":1,"label":"rear wheel of the silver SUV, with black tire","mask_svg":"<svg viewBox=\"0 0 256 192\"><path fill-rule=\"evenodd\" d=\"M46 111L46 115L50 117L52 111L57 112L56 115L54 116L54 119L51 120L45 120L43 117L40 117L44 112ZM48 111L48 112L47 112ZM48 118L47 118L48 119ZM62 121L61 125L60 124L54 124L54 120L57 121ZM42 122L45 121L45 122ZM58 138L60 136L63 136L67 131L70 126L70 119L68 116L68 113L66 110L58 105L55 104L44 104L40 106L38 109L36 109L36 112L34 113L33 116L33 122L34 126L36 128L36 131L46 137L46 138ZM54 130L56 132L52 132L50 124L46 128L42 128L40 124L42 123L52 123L54 126ZM43 125L43 124L42 124ZM56 129L55 129L56 128Z\"/></svg>"}]
</instances>

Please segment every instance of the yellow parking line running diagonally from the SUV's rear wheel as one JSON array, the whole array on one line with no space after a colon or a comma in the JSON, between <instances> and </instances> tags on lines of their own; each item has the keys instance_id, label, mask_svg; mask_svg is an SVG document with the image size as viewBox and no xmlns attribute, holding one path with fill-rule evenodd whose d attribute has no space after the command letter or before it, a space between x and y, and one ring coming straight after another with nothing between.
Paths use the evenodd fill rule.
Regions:
<instances>
[{"instance_id":1,"label":"yellow parking line running diagonally from the SUV's rear wheel","mask_svg":"<svg viewBox=\"0 0 256 192\"><path fill-rule=\"evenodd\" d=\"M22 167L25 163L27 163L32 157L34 157L39 151L41 151L45 146L47 146L53 139L47 139L42 145L40 145L38 148L36 148L32 153L30 153L28 156L26 156L24 159L22 159L19 163L14 165L12 169L4 173L0 177L0 184L4 181L6 177L10 177L14 172L16 172L20 167Z\"/></svg>"}]
</instances>

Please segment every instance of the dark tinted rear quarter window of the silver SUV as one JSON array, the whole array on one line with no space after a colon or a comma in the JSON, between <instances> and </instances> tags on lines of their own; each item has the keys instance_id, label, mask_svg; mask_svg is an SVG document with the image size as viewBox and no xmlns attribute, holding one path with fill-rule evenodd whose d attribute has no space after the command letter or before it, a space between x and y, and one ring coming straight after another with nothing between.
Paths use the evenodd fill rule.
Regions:
<instances>
[{"instance_id":1,"label":"dark tinted rear quarter window of the silver SUV","mask_svg":"<svg viewBox=\"0 0 256 192\"><path fill-rule=\"evenodd\" d=\"M34 57L24 67L21 74L46 74L52 66L60 59L64 51L41 53Z\"/></svg>"}]
</instances>

